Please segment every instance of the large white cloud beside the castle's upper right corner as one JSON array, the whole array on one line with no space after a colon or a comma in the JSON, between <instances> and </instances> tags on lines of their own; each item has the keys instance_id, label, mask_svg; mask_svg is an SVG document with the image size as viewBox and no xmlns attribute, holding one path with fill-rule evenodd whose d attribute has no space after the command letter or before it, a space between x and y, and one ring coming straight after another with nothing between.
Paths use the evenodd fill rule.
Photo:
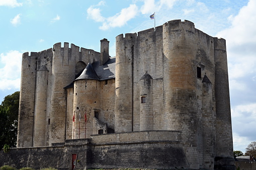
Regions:
<instances>
[{"instance_id":1,"label":"large white cloud beside the castle's upper right corner","mask_svg":"<svg viewBox=\"0 0 256 170\"><path fill-rule=\"evenodd\" d=\"M256 74L256 1L250 0L237 16L229 16L231 27L216 36L226 39L230 79Z\"/></svg>"}]
</instances>

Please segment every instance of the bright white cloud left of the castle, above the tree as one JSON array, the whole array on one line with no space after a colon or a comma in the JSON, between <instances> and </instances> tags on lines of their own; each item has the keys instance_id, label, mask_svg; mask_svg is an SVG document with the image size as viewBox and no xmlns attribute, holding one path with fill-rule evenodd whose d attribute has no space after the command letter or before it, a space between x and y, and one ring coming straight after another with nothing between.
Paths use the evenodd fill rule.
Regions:
<instances>
[{"instance_id":1,"label":"bright white cloud left of the castle, above the tree","mask_svg":"<svg viewBox=\"0 0 256 170\"><path fill-rule=\"evenodd\" d=\"M20 88L20 76L21 76L21 62L22 53L18 51L10 51L6 54L0 54L1 65L0 68L0 89L19 89Z\"/></svg>"}]
</instances>

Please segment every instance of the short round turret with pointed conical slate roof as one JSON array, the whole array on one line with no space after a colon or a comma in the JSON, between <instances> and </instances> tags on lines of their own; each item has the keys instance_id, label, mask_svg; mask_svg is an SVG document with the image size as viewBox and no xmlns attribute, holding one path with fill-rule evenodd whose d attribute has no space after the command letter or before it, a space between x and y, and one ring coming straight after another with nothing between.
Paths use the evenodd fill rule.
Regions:
<instances>
[{"instance_id":1,"label":"short round turret with pointed conical slate roof","mask_svg":"<svg viewBox=\"0 0 256 170\"><path fill-rule=\"evenodd\" d=\"M91 62L74 80L73 138L90 138L98 134L93 127L95 110L100 109L100 82ZM85 121L87 119L87 121ZM95 131L94 131L95 130Z\"/></svg>"}]
</instances>

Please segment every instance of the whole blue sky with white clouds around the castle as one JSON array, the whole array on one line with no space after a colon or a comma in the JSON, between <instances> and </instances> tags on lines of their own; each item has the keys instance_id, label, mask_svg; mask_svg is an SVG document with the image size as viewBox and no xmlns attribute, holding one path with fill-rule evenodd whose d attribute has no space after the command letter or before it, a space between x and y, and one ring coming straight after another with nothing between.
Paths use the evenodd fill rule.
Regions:
<instances>
[{"instance_id":1,"label":"whole blue sky with white clouds around the castle","mask_svg":"<svg viewBox=\"0 0 256 170\"><path fill-rule=\"evenodd\" d=\"M226 39L234 150L256 141L256 0L0 0L0 102L20 89L24 52L68 42L100 51L100 40L181 19Z\"/></svg>"}]
</instances>

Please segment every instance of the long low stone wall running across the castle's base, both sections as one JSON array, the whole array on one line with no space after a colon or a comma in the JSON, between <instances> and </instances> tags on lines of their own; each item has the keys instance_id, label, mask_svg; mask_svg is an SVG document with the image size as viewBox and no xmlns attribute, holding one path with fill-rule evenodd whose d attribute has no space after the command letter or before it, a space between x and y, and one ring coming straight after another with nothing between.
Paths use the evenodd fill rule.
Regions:
<instances>
[{"instance_id":1,"label":"long low stone wall running across the castle's base, both sections","mask_svg":"<svg viewBox=\"0 0 256 170\"><path fill-rule=\"evenodd\" d=\"M60 170L71 170L72 155L76 154L74 169L186 169L189 165L180 144L180 133L141 131L104 134L93 135L92 140L65 140L64 143L54 143L54 146L11 148L7 153L0 151L0 166L8 164L16 168L55 167ZM115 140L104 141L112 137Z\"/></svg>"}]
</instances>

